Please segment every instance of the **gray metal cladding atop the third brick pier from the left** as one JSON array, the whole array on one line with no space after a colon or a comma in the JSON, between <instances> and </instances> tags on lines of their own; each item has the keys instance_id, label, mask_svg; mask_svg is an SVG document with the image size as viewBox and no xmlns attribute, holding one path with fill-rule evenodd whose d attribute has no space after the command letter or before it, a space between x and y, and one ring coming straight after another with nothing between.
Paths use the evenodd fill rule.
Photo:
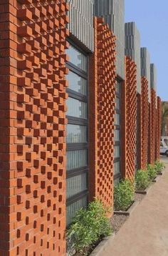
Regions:
<instances>
[{"instance_id":1,"label":"gray metal cladding atop the third brick pier from the left","mask_svg":"<svg viewBox=\"0 0 168 256\"><path fill-rule=\"evenodd\" d=\"M135 22L125 23L125 56L137 65L137 92L141 94L140 32Z\"/></svg>"}]
</instances>

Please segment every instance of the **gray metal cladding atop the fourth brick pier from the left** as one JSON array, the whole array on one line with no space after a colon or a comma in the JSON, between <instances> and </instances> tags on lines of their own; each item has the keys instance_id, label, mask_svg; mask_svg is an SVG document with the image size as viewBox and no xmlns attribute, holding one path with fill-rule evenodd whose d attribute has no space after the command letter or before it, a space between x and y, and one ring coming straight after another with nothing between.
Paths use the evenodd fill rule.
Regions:
<instances>
[{"instance_id":1,"label":"gray metal cladding atop the fourth brick pier from the left","mask_svg":"<svg viewBox=\"0 0 168 256\"><path fill-rule=\"evenodd\" d=\"M151 102L150 97L150 56L149 51L146 47L140 49L141 55L141 76L146 77L149 84L149 102Z\"/></svg>"}]
</instances>

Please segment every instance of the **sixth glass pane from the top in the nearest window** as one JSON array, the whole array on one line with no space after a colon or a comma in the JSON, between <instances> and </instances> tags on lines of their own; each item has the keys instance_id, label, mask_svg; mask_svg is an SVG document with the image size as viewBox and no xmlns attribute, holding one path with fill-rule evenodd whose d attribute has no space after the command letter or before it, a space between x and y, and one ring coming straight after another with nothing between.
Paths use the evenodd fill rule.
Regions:
<instances>
[{"instance_id":1,"label":"sixth glass pane from the top in the nearest window","mask_svg":"<svg viewBox=\"0 0 168 256\"><path fill-rule=\"evenodd\" d=\"M88 189L88 175L87 173L71 177L66 180L66 198L73 197L80 192Z\"/></svg>"}]
</instances>

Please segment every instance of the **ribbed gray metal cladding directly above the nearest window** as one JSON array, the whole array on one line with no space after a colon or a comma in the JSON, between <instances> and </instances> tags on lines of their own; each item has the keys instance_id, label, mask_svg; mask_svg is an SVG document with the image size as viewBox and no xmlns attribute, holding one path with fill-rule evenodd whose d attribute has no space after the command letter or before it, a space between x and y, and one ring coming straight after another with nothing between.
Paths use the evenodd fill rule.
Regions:
<instances>
[{"instance_id":1,"label":"ribbed gray metal cladding directly above the nearest window","mask_svg":"<svg viewBox=\"0 0 168 256\"><path fill-rule=\"evenodd\" d=\"M88 50L94 51L94 0L66 0L69 4L68 29Z\"/></svg>"}]
</instances>

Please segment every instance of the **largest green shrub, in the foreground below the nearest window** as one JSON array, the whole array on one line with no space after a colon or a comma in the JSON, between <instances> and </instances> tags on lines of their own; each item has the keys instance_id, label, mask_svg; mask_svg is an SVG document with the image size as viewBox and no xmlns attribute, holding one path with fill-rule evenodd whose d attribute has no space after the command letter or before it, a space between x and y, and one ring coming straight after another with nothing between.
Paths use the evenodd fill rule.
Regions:
<instances>
[{"instance_id":1,"label":"largest green shrub, in the foreground below the nearest window","mask_svg":"<svg viewBox=\"0 0 168 256\"><path fill-rule=\"evenodd\" d=\"M95 242L111 235L112 228L106 215L107 210L99 200L90 202L88 209L80 209L67 231L71 250L88 255Z\"/></svg>"}]
</instances>

